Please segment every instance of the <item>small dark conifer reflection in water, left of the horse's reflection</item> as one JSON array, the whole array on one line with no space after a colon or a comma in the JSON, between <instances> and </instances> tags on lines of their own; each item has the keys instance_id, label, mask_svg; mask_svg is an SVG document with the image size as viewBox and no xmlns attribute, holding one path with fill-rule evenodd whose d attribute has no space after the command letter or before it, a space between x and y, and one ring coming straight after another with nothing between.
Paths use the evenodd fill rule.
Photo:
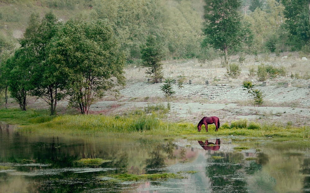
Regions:
<instances>
[{"instance_id":1,"label":"small dark conifer reflection in water, left of the horse's reflection","mask_svg":"<svg viewBox=\"0 0 310 193\"><path fill-rule=\"evenodd\" d=\"M147 174L156 174L162 172L165 167L165 159L166 156L162 154L163 147L158 145L154 150L150 153L149 159L146 159L146 173Z\"/></svg>"}]
</instances>

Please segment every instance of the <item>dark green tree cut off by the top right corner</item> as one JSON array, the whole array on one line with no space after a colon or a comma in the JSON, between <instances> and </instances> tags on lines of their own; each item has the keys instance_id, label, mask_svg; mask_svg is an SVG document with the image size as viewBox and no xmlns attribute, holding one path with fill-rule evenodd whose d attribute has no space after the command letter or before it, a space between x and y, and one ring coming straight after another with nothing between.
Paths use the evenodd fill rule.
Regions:
<instances>
[{"instance_id":1,"label":"dark green tree cut off by the top right corner","mask_svg":"<svg viewBox=\"0 0 310 193\"><path fill-rule=\"evenodd\" d=\"M310 0L282 0L286 28L298 47L310 42Z\"/></svg>"}]
</instances>

